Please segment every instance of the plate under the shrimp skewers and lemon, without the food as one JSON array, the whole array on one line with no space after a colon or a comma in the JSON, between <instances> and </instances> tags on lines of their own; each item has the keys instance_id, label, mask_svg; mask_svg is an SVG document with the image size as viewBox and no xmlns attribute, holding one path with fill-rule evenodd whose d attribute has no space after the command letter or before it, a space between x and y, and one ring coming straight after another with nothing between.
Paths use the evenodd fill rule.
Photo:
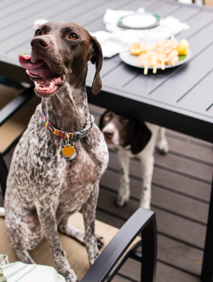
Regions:
<instances>
[{"instance_id":1,"label":"plate under the shrimp skewers and lemon, without the food","mask_svg":"<svg viewBox=\"0 0 213 282\"><path fill-rule=\"evenodd\" d=\"M130 66L136 66L137 68L144 69L144 66L138 66L137 65L137 62L140 62L140 59L138 58L138 56L132 55L130 51L121 52L121 53L119 53L119 56L120 56L120 59L124 63L126 63ZM191 51L189 50L188 55L186 55L184 57L184 59L183 59L182 56L179 56L180 60L178 62L176 62L176 64L174 66L173 65L165 65L165 69L166 68L173 68L175 66L179 66L179 65L184 64L185 62L187 62L190 59L190 56L191 56ZM153 67L149 66L148 69L153 69ZM161 69L161 67L157 67L157 69Z\"/></svg>"}]
</instances>

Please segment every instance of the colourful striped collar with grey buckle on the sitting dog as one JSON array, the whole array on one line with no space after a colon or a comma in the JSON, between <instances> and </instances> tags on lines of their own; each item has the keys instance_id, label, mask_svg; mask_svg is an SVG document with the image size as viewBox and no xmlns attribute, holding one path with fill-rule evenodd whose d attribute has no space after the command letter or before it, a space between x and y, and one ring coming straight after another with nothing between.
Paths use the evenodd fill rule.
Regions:
<instances>
[{"instance_id":1,"label":"colourful striped collar with grey buckle on the sitting dog","mask_svg":"<svg viewBox=\"0 0 213 282\"><path fill-rule=\"evenodd\" d=\"M80 138L86 136L89 134L90 128L93 126L94 123L94 116L93 115L89 115L89 121L86 123L86 126L80 130L80 131L76 131L76 132L66 132L63 130L58 130L55 127L53 127L51 125L51 123L49 123L49 121L46 119L46 117L44 116L44 113L42 112L42 109L40 110L41 112L41 118L45 123L45 126L47 127L48 130L50 130L54 135L64 138L64 139L68 139L69 140L79 140Z\"/></svg>"}]
</instances>

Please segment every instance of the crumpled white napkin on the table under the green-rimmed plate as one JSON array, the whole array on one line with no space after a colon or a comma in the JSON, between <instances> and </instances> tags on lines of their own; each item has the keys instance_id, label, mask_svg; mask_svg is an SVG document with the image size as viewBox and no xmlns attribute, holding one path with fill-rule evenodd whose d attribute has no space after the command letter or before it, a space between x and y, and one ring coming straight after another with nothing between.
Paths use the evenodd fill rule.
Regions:
<instances>
[{"instance_id":1,"label":"crumpled white napkin on the table under the green-rimmed plate","mask_svg":"<svg viewBox=\"0 0 213 282\"><path fill-rule=\"evenodd\" d=\"M183 29L189 29L186 23L181 23L179 19L168 16L165 19L161 18L159 26L154 28L121 30L117 26L118 19L122 16L133 14L134 12L143 13L145 9L139 8L137 11L107 9L103 16L105 30L90 33L96 36L97 40L100 42L105 58L110 58L117 53L129 50L129 46L132 43L168 39L172 34L176 35Z\"/></svg>"}]
</instances>

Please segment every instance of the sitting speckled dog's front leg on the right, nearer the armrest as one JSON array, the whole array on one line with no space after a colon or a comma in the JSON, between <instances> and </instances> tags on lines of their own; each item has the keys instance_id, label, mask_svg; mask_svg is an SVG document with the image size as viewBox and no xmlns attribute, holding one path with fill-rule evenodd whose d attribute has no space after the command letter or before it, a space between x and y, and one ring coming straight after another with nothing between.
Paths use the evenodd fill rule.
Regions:
<instances>
[{"instance_id":1,"label":"sitting speckled dog's front leg on the right, nearer the armrest","mask_svg":"<svg viewBox=\"0 0 213 282\"><path fill-rule=\"evenodd\" d=\"M99 192L99 181L94 185L94 189L87 199L86 203L82 205L82 214L84 218L85 227L85 245L89 258L90 265L96 260L99 255L97 237L95 235L95 218L96 206Z\"/></svg>"}]
</instances>

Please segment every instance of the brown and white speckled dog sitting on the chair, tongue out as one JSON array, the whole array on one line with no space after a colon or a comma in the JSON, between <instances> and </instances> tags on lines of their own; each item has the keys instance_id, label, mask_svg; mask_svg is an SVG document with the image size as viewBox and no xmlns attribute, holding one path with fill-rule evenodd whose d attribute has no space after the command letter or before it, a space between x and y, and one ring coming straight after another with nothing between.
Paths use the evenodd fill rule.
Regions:
<instances>
[{"instance_id":1,"label":"brown and white speckled dog sitting on the chair, tongue out","mask_svg":"<svg viewBox=\"0 0 213 282\"><path fill-rule=\"evenodd\" d=\"M31 56L20 55L19 62L35 81L35 92L42 100L12 157L5 194L5 226L14 251L25 263L34 263L27 250L45 236L59 273L67 282L74 282L77 277L68 264L57 226L86 245L92 264L99 254L94 221L99 179L108 163L108 150L96 124L88 130L91 118L85 80L90 60L96 64L92 92L100 91L103 55L96 38L70 22L45 23L36 30L31 46ZM59 130L55 131L59 136L64 134L67 146L72 143L77 152L74 159L63 157L65 138L52 134L54 129L49 123L46 128L44 121ZM77 132L82 129L82 133ZM78 140L68 140L73 132L77 132L73 136ZM67 224L70 214L81 207L85 234Z\"/></svg>"}]
</instances>

